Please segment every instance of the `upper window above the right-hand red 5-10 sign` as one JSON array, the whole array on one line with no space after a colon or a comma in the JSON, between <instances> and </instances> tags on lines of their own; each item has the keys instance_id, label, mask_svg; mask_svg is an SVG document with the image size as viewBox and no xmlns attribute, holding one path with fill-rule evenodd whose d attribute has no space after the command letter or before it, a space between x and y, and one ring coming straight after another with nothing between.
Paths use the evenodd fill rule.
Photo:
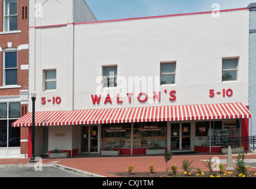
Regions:
<instances>
[{"instance_id":1,"label":"upper window above the right-hand red 5-10 sign","mask_svg":"<svg viewBox=\"0 0 256 189\"><path fill-rule=\"evenodd\" d=\"M238 58L222 60L222 82L236 81L238 71Z\"/></svg>"}]
</instances>

